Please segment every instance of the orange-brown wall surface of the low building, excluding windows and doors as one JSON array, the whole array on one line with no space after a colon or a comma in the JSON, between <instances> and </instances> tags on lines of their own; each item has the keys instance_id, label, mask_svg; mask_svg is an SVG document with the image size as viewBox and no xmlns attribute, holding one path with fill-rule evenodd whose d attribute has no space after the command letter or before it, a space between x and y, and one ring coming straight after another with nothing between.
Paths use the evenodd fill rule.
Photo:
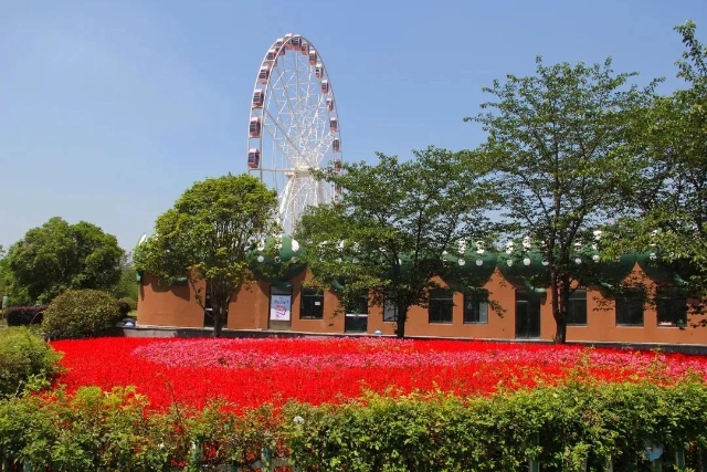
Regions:
<instances>
[{"instance_id":1,"label":"orange-brown wall surface of the low building, excluding windows and doors","mask_svg":"<svg viewBox=\"0 0 707 472\"><path fill-rule=\"evenodd\" d=\"M641 270L634 270L632 276L644 277ZM303 282L312 274L302 273L291 280L292 312L291 321L270 321L271 285L265 281L253 282L244 286L232 300L229 307L226 328L229 329L289 329L303 333L345 333L345 316L339 313L334 291L324 294L323 319L300 318L300 294ZM650 281L647 284L650 285ZM454 294L452 323L430 323L428 308L413 306L408 313L405 335L440 336L478 339L516 338L516 291L500 272L492 275L485 285L500 310L488 307L487 323L464 323L464 295ZM367 333L380 331L394 334L395 323L384 322L382 308L369 306ZM587 289L587 325L568 326L567 340L581 342L622 342L622 343L665 343L665 344L707 344L707 327L692 327L705 316L688 316L687 328L658 326L654 306L644 306L643 326L618 326L615 304L603 296L600 287ZM138 324L180 327L203 326L203 312L194 300L190 286L160 287L154 277L145 276L140 285L138 301ZM537 339L551 340L556 333L552 306L549 296L540 297L540 336Z\"/></svg>"}]
</instances>

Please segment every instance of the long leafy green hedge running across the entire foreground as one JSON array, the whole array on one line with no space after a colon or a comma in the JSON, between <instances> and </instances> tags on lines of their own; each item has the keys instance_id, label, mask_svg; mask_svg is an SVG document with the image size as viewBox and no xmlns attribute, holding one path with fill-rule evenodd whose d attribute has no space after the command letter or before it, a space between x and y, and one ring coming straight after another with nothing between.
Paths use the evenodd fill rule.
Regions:
<instances>
[{"instance_id":1,"label":"long leafy green hedge running across the entire foreground","mask_svg":"<svg viewBox=\"0 0 707 472\"><path fill-rule=\"evenodd\" d=\"M707 448L707 386L696 378L588 385L492 397L370 395L344 406L288 403L236 416L228 405L150 415L131 389L61 390L0 403L0 455L54 471L200 470L288 457L302 471L604 470L645 465L646 443ZM270 461L265 454L263 462Z\"/></svg>"}]
</instances>

